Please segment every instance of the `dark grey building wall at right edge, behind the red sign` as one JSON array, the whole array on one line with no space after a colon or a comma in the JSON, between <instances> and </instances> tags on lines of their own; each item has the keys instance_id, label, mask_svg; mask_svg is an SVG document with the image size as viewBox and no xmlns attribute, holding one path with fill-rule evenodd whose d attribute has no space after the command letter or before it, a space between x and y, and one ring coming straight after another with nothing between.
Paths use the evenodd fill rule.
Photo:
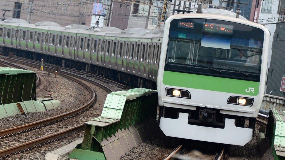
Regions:
<instances>
[{"instance_id":1,"label":"dark grey building wall at right edge, behind the red sign","mask_svg":"<svg viewBox=\"0 0 285 160\"><path fill-rule=\"evenodd\" d=\"M272 44L272 56L271 63L268 72L267 79L267 89L266 94L272 91L272 95L283 97L283 92L280 91L281 79L285 74L285 41L280 41L285 39L285 25L284 23L277 24L275 35L273 37ZM277 40L278 34L278 41Z\"/></svg>"}]
</instances>

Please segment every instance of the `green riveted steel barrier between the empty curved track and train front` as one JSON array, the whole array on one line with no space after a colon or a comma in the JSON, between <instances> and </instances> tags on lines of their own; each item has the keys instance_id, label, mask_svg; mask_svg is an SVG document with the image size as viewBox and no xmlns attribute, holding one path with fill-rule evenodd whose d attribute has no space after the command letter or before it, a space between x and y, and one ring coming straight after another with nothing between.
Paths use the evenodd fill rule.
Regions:
<instances>
[{"instance_id":1,"label":"green riveted steel barrier between the empty curved track and train front","mask_svg":"<svg viewBox=\"0 0 285 160\"><path fill-rule=\"evenodd\" d=\"M85 123L83 142L69 158L119 159L159 133L157 91L135 88L107 95L100 117Z\"/></svg>"}]
</instances>

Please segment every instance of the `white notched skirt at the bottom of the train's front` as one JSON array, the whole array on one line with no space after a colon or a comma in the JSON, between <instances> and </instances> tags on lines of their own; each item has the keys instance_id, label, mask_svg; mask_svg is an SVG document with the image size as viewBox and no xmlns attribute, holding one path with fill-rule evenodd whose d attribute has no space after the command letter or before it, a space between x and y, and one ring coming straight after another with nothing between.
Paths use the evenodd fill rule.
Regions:
<instances>
[{"instance_id":1,"label":"white notched skirt at the bottom of the train's front","mask_svg":"<svg viewBox=\"0 0 285 160\"><path fill-rule=\"evenodd\" d=\"M252 129L234 125L234 119L225 119L225 128L188 124L188 113L179 113L178 119L161 117L159 127L166 136L201 140L231 145L245 145L252 138Z\"/></svg>"}]
</instances>

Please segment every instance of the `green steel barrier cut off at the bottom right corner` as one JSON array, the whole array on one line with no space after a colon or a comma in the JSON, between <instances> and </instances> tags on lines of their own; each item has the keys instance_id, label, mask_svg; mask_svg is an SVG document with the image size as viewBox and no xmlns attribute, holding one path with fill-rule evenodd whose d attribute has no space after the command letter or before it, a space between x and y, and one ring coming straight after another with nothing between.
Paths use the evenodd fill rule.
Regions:
<instances>
[{"instance_id":1,"label":"green steel barrier cut off at the bottom right corner","mask_svg":"<svg viewBox=\"0 0 285 160\"><path fill-rule=\"evenodd\" d=\"M285 112L270 110L266 136L275 160L285 160Z\"/></svg>"}]
</instances>

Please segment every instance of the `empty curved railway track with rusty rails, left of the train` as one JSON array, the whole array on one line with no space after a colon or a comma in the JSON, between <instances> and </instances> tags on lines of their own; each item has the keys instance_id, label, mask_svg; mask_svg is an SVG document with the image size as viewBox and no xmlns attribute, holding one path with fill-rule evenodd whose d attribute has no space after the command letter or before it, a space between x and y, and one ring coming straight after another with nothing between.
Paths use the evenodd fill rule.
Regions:
<instances>
[{"instance_id":1,"label":"empty curved railway track with rusty rails, left of the train","mask_svg":"<svg viewBox=\"0 0 285 160\"><path fill-rule=\"evenodd\" d=\"M1 65L11 64L6 61L0 62ZM38 66L36 64L25 65L32 67ZM46 70L47 69L52 71L51 68L46 68ZM82 114L86 114L86 111L92 106L94 106L97 102L97 96L94 90L86 83L96 85L107 93L112 92L112 90L107 88L106 86L79 75L66 71L60 71L58 74L65 78L73 80L84 88L86 88L86 90L88 90L90 94L90 99L88 100L88 102L80 108L63 113L61 115L0 131L0 159L6 159L10 156L13 156L14 154L20 154L32 150L34 148L55 142L74 133L83 131L83 123L90 120L92 117ZM81 116L77 117L78 115ZM57 132L54 132L54 130L56 130ZM31 137L29 135L37 136Z\"/></svg>"}]
</instances>

